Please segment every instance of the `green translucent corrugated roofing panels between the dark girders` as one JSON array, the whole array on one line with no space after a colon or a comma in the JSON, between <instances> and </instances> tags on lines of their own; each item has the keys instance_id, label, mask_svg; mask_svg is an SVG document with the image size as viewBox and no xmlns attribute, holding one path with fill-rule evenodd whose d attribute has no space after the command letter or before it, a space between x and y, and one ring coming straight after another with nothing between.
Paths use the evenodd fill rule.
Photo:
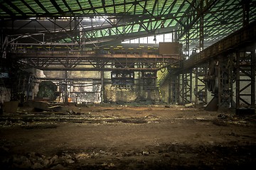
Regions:
<instances>
[{"instance_id":1,"label":"green translucent corrugated roofing panels between the dark girders","mask_svg":"<svg viewBox=\"0 0 256 170\"><path fill-rule=\"evenodd\" d=\"M1 0L0 0L1 1ZM8 3L9 1L11 1L12 4L14 4L15 6L11 7L10 3ZM89 18L89 16L87 16L87 13L90 14L90 16L93 16L94 13L100 13L100 15L104 16L104 13L107 13L108 16L114 16L116 13L119 13L120 16L122 16L125 13L129 13L129 14L139 14L140 16L142 16L142 18L136 18L136 19L129 19L130 16L124 16L125 19L125 24L127 24L127 26L124 27L118 27L118 30L116 30L116 28L112 28L111 29L107 29L105 27L100 28L100 23L94 22L95 25L97 24L97 29L100 29L98 31L93 30L93 28L90 28L91 25L87 25L87 31L88 33L85 34L90 34L90 35L95 35L94 38L98 37L102 37L102 36L110 36L110 30L112 35L114 34L120 34L124 32L126 33L133 33L133 32L137 32L137 31L144 31L144 27L147 27L147 29L149 29L149 31L154 31L154 28L161 28L161 22L164 21L164 19L166 19L166 21L164 21L164 28L166 27L173 27L176 26L176 28L178 29L183 29L183 26L181 25L186 25L189 23L187 23L187 19L188 18L182 18L183 16L185 17L189 17L191 14L193 15L193 13L185 13L187 11L188 8L191 8L192 10L195 10L193 7L191 7L191 4L193 4L194 1L196 1L196 6L198 6L198 0L139 0L137 1L137 3L134 4L134 0L105 0L105 5L102 4L102 0L90 0L92 2L92 7L95 8L95 10L93 10L93 8L91 7L89 0L55 0L55 3L58 4L58 6L54 6L55 3L50 0L38 0L41 5L38 5L36 3L36 1L33 0L24 0L26 1L26 3L31 6L32 9L28 8L25 4L21 3L21 1L19 0L5 0L5 1L1 1L2 2L2 6L0 6L0 17L3 20L9 19L9 18L16 18L16 17L22 17L22 19L26 16L28 16L28 18L32 18L35 16L44 16L44 14L46 13L46 11L48 11L49 13L47 14L47 16L51 17L56 17L56 16L72 16L74 14L75 16L81 16L80 14L82 14L83 16L86 16L87 18ZM79 3L78 3L78 2ZM7 3L6 3L7 2ZM65 2L68 4L65 4ZM174 2L175 5L174 5ZM206 6L206 1L204 1L204 5ZM211 1L208 0L208 3L210 3ZM253 6L252 4L255 3L256 0L251 0L250 1L250 18L249 21L255 21L256 19L256 8L255 5ZM126 4L124 4L126 3ZM146 7L145 7L146 4ZM255 3L256 4L256 3ZM174 8L171 9L171 6L174 5ZM182 6L182 8L180 8ZM104 6L107 6L104 8ZM145 9L146 12L145 12ZM46 8L46 10L43 10L44 8ZM91 9L92 8L92 9ZM61 9L61 10L60 10ZM70 11L70 9L72 11ZM166 10L167 9L167 10ZM33 11L36 11L36 15L33 14ZM64 11L64 12L62 12ZM154 16L150 16L150 14L148 13L153 13ZM84 12L84 13L83 13ZM116 12L116 13L114 13ZM169 18L159 18L159 15L161 14L168 14L169 12L171 12L170 16L167 16ZM188 11L191 12L191 11ZM11 16L13 13L13 16ZM25 13L25 15L23 15L23 13ZM68 14L68 15L67 15ZM91 15L92 14L92 15ZM143 14L143 15L142 15ZM196 13L197 14L197 13ZM177 16L176 20L174 20L172 18L172 16ZM151 20L146 19L144 20L143 18L154 18L156 17L157 20L153 21L151 23ZM193 19L196 18L196 16L191 16L191 20L188 21L193 21ZM136 21L140 21L143 24L138 24ZM184 23L180 23L180 22L184 22ZM191 28L191 30L189 31L189 33L191 33L191 36L193 38L198 38L198 21L195 21L196 23L194 23L194 27ZM16 22L18 23L18 22ZM120 21L120 23L122 23L122 21ZM51 23L53 24L53 23ZM68 23L67 23L68 25ZM132 26L133 25L133 26ZM46 25L43 25L46 26ZM105 24L105 26L107 26L107 24ZM152 27L151 27L152 26ZM178 26L178 27L177 27ZM204 15L204 31L206 34L213 34L213 35L217 35L218 33L224 35L227 33L230 33L230 31L234 31L240 27L242 27L242 4L240 3L240 1L237 0L218 0L216 1L215 4L213 4L213 6L210 8L210 10L207 11L207 13L205 13ZM29 24L22 28L21 30L24 32L29 32L31 30L31 27ZM108 26L109 27L109 26ZM26 28L29 28L28 30L25 30ZM58 26L57 26L58 28ZM94 27L96 28L96 27ZM132 29L132 31L131 31ZM170 31L172 31L173 28L170 28ZM43 30L43 28L41 29ZM217 31L218 30L218 31ZM227 31L226 31L227 30ZM157 30L155 30L157 33ZM95 33L95 34L94 34ZM111 36L112 36L111 35ZM71 41L70 38L66 38L68 37L68 35L63 34L63 39L65 41ZM56 38L57 39L57 38ZM92 38L93 39L93 38ZM60 40L60 38L58 38L58 40ZM64 42L63 40L63 42ZM196 40L195 40L196 41Z\"/></svg>"}]
</instances>

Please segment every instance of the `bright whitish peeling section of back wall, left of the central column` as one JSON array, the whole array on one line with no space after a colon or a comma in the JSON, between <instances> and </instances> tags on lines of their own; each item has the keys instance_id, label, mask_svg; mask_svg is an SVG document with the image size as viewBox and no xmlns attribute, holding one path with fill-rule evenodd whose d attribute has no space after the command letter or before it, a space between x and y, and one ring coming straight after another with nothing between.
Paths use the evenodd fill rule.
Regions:
<instances>
[{"instance_id":1,"label":"bright whitish peeling section of back wall, left of the central column","mask_svg":"<svg viewBox=\"0 0 256 170\"><path fill-rule=\"evenodd\" d=\"M60 91L60 102L65 98L65 72L63 71L41 71L38 70L37 77L51 79L58 86ZM74 103L100 103L101 84L100 72L68 71L68 98ZM38 91L38 86L33 89L34 94Z\"/></svg>"}]
</instances>

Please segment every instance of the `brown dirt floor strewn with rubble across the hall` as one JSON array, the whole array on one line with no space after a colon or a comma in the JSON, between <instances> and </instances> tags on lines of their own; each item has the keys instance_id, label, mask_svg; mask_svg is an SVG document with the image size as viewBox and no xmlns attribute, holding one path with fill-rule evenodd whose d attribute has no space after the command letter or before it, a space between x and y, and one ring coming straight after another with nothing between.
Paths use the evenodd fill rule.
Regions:
<instances>
[{"instance_id":1,"label":"brown dirt floor strewn with rubble across the hall","mask_svg":"<svg viewBox=\"0 0 256 170\"><path fill-rule=\"evenodd\" d=\"M21 107L0 115L0 169L255 169L255 118L184 106Z\"/></svg>"}]
</instances>

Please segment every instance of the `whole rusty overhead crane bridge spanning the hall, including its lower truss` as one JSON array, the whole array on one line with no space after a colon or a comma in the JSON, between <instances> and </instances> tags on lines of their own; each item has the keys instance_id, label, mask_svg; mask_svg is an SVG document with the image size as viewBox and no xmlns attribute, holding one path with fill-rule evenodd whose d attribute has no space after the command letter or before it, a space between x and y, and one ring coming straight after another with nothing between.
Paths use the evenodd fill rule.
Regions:
<instances>
[{"instance_id":1,"label":"whole rusty overhead crane bridge spanning the hall, including its lower truss","mask_svg":"<svg viewBox=\"0 0 256 170\"><path fill-rule=\"evenodd\" d=\"M183 60L179 50L169 55L159 55L157 45L117 45L90 49L75 47L69 50L65 49L65 45L53 45L51 50L46 47L19 46L9 52L9 57L36 69L67 71L157 71Z\"/></svg>"}]
</instances>

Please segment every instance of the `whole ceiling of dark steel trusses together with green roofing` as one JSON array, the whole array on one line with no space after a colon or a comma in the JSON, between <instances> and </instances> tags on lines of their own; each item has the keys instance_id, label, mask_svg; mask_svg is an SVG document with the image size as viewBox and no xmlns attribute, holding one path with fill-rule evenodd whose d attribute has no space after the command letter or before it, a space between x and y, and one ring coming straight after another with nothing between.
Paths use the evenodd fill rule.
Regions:
<instances>
[{"instance_id":1,"label":"whole ceiling of dark steel trusses together with green roofing","mask_svg":"<svg viewBox=\"0 0 256 170\"><path fill-rule=\"evenodd\" d=\"M83 40L84 44L95 44L96 46L97 43L121 42L121 40L129 38L171 33L172 31L179 32L178 39L181 41L185 38L186 33L189 33L191 40L196 42L198 18L201 15L204 15L204 33L206 36L210 35L208 40L218 40L242 27L243 1L235 0L98 0L97 2L76 0L76 3L67 0L50 0L49 2L21 0L22 8L17 6L16 1L18 0L4 0L4 3L0 4L0 11L4 13L4 15L0 13L1 25L3 25L1 29L5 29L13 36L12 38L19 38L21 42L28 39L31 42L40 42L41 40L38 38L40 35L37 33L44 33L46 42L53 40L80 43ZM201 2L204 4L203 10L199 8ZM36 5L36 8L40 7L42 10L38 10L39 12L35 10L32 3ZM250 11L246 11L246 17L251 22L256 18L256 9L254 8L256 3L255 0L250 0L249 3ZM121 7L124 8L124 12L117 12ZM24 8L26 8L26 12L23 11ZM249 18L248 15L250 15ZM60 16L63 16L63 20L67 20L67 26L64 26L65 23L58 24L60 21L53 20L54 18L61 20ZM83 25L81 18L93 19L95 16L104 18L105 21L102 23L94 21L91 27ZM29 17L35 19L28 22L18 21L21 18ZM78 17L77 20L74 17ZM40 18L50 21L52 28L48 27L47 23L39 21ZM12 26L9 19L12 21ZM8 26L4 25L5 21L9 22ZM35 29L33 30L31 27L34 25ZM29 29L26 30L27 28ZM163 28L169 28L169 31ZM31 30L32 32L30 32ZM218 38L215 38L217 36Z\"/></svg>"}]
</instances>

